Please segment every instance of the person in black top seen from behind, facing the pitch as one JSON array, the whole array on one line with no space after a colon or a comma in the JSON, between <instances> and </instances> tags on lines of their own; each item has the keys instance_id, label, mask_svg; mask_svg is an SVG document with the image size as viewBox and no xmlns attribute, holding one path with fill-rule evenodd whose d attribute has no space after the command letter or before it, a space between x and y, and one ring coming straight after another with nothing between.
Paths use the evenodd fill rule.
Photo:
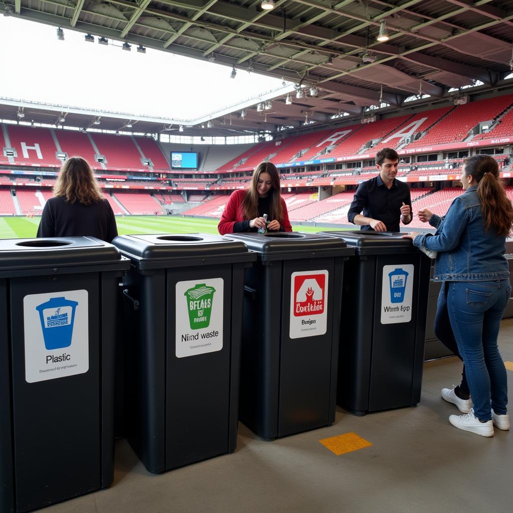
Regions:
<instances>
[{"instance_id":1,"label":"person in black top seen from behind, facing the pitch","mask_svg":"<svg viewBox=\"0 0 513 513\"><path fill-rule=\"evenodd\" d=\"M104 198L91 166L82 157L68 159L57 177L43 209L38 237L93 236L111 242L116 220Z\"/></svg>"}]
</instances>

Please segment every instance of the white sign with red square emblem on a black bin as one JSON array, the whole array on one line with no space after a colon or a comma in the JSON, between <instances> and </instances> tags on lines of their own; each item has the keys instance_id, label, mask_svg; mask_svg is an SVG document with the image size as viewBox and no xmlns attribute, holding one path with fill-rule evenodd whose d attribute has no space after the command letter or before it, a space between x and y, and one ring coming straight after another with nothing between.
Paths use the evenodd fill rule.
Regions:
<instances>
[{"instance_id":1,"label":"white sign with red square emblem on a black bin","mask_svg":"<svg viewBox=\"0 0 513 513\"><path fill-rule=\"evenodd\" d=\"M328 271L293 272L290 281L289 337L317 337L326 333Z\"/></svg>"}]
</instances>

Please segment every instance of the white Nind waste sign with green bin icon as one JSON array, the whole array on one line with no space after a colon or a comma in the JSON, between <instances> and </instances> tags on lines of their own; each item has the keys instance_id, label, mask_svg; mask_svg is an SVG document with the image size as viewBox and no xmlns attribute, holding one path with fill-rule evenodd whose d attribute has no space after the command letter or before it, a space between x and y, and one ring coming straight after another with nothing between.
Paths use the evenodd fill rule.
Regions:
<instances>
[{"instance_id":1,"label":"white Nind waste sign with green bin icon","mask_svg":"<svg viewBox=\"0 0 513 513\"><path fill-rule=\"evenodd\" d=\"M176 284L177 358L223 349L223 279Z\"/></svg>"}]
</instances>

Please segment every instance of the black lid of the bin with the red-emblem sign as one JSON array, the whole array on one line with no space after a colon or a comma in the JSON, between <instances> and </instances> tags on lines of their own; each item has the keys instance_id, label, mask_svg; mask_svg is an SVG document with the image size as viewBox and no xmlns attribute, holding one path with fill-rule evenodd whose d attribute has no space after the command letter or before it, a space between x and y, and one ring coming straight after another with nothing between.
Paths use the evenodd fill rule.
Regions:
<instances>
[{"instance_id":1,"label":"black lid of the bin with the red-emblem sign","mask_svg":"<svg viewBox=\"0 0 513 513\"><path fill-rule=\"evenodd\" d=\"M243 241L258 253L260 261L302 258L343 257L354 254L342 239L319 233L271 231L267 233L231 233L230 239Z\"/></svg>"}]
</instances>

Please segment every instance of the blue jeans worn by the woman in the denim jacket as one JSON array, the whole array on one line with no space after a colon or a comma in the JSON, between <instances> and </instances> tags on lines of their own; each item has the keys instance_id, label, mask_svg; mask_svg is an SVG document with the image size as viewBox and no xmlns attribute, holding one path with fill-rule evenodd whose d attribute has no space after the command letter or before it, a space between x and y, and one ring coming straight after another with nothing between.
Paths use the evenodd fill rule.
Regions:
<instances>
[{"instance_id":1,"label":"blue jeans worn by the woman in the denim jacket","mask_svg":"<svg viewBox=\"0 0 513 513\"><path fill-rule=\"evenodd\" d=\"M446 282L447 310L465 364L476 417L507 413L507 377L497 338L511 292L509 280Z\"/></svg>"}]
</instances>

